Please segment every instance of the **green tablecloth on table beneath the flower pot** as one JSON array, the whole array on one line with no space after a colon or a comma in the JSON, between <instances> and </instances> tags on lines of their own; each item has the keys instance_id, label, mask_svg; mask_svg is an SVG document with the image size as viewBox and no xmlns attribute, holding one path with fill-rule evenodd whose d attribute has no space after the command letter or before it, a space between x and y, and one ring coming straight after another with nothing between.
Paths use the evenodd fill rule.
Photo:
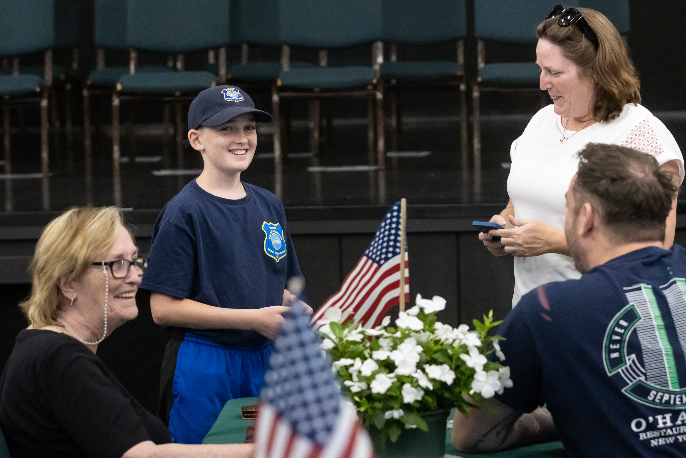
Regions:
<instances>
[{"instance_id":1,"label":"green tablecloth on table beneath the flower pot","mask_svg":"<svg viewBox=\"0 0 686 458\"><path fill-rule=\"evenodd\" d=\"M241 407L253 405L259 402L258 398L238 398L232 399L224 405L222 413L207 433L203 444L242 444L246 439L246 429L254 426L254 420L243 420L241 418ZM451 417L452 418L452 417ZM445 436L445 453L447 458L560 458L567 457L565 450L560 442L546 442L528 447L515 448L498 453L483 453L481 455L471 455L469 453L458 452L450 444L450 432L448 429Z\"/></svg>"}]
</instances>

